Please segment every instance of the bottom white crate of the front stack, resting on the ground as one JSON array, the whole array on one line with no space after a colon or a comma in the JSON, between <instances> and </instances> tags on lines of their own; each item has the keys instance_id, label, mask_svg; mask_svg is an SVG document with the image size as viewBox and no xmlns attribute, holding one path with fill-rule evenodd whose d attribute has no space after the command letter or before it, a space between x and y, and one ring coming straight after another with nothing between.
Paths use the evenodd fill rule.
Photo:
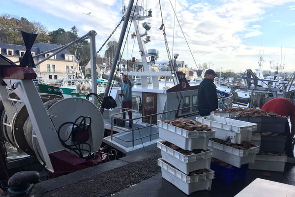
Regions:
<instances>
[{"instance_id":1,"label":"bottom white crate of the front stack, resting on the ground","mask_svg":"<svg viewBox=\"0 0 295 197\"><path fill-rule=\"evenodd\" d=\"M187 195L200 190L210 190L214 171L200 175L188 176L176 168L166 164L162 159L158 159L158 165L161 166L162 177L175 185L179 190Z\"/></svg>"}]
</instances>

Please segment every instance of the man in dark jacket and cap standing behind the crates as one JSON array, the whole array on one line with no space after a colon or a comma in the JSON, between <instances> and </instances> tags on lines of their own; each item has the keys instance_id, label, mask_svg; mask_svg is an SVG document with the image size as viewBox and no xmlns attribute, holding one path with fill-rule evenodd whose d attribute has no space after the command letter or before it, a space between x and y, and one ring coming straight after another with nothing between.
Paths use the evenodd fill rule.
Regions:
<instances>
[{"instance_id":1,"label":"man in dark jacket and cap standing behind the crates","mask_svg":"<svg viewBox=\"0 0 295 197\"><path fill-rule=\"evenodd\" d=\"M198 104L200 116L210 115L211 111L218 108L218 99L216 93L216 86L214 84L215 74L214 70L207 69L205 78L199 85Z\"/></svg>"}]
</instances>

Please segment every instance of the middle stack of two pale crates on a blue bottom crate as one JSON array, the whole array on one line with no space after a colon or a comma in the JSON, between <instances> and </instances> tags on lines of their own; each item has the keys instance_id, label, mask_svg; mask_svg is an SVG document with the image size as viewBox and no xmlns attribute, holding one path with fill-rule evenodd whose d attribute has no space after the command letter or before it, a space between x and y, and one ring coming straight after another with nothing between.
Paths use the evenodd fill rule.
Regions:
<instances>
[{"instance_id":1,"label":"middle stack of two pale crates on a blue bottom crate","mask_svg":"<svg viewBox=\"0 0 295 197\"><path fill-rule=\"evenodd\" d=\"M217 180L231 184L234 180L246 178L245 176L234 176L234 173L246 174L248 164L255 162L259 147L240 150L229 146L229 144L241 144L242 141L250 144L252 132L257 130L257 124L225 118L230 116L224 115L226 113L222 114L223 117L216 115L197 117L196 121L213 127L215 137L220 139L209 140L208 146L213 150L214 158L232 166L227 168L225 165L212 163L211 169L215 171ZM222 140L228 144L219 143Z\"/></svg>"}]
</instances>

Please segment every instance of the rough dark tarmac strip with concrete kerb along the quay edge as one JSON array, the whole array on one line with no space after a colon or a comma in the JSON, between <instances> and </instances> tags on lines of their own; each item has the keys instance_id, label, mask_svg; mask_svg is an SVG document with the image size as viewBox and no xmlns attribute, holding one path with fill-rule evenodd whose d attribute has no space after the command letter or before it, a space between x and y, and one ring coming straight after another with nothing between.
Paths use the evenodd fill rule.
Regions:
<instances>
[{"instance_id":1,"label":"rough dark tarmac strip with concrete kerb along the quay edge","mask_svg":"<svg viewBox=\"0 0 295 197\"><path fill-rule=\"evenodd\" d=\"M31 196L111 196L158 174L161 169L156 164L160 157L158 150L152 150L60 176L37 184Z\"/></svg>"}]
</instances>

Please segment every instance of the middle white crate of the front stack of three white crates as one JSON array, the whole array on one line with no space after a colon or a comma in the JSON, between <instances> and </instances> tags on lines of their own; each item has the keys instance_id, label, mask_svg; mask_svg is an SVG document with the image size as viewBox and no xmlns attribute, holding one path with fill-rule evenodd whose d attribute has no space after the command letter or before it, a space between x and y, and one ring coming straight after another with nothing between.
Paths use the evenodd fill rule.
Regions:
<instances>
[{"instance_id":1,"label":"middle white crate of the front stack of three white crates","mask_svg":"<svg viewBox=\"0 0 295 197\"><path fill-rule=\"evenodd\" d=\"M191 155L183 155L176 150L165 146L163 142L165 142L165 140L157 142L157 147L161 149L162 159L169 164L174 165L185 174L189 174L198 169L210 168L213 153L211 149L207 149L206 152L202 151L199 154L192 153Z\"/></svg>"}]
</instances>

